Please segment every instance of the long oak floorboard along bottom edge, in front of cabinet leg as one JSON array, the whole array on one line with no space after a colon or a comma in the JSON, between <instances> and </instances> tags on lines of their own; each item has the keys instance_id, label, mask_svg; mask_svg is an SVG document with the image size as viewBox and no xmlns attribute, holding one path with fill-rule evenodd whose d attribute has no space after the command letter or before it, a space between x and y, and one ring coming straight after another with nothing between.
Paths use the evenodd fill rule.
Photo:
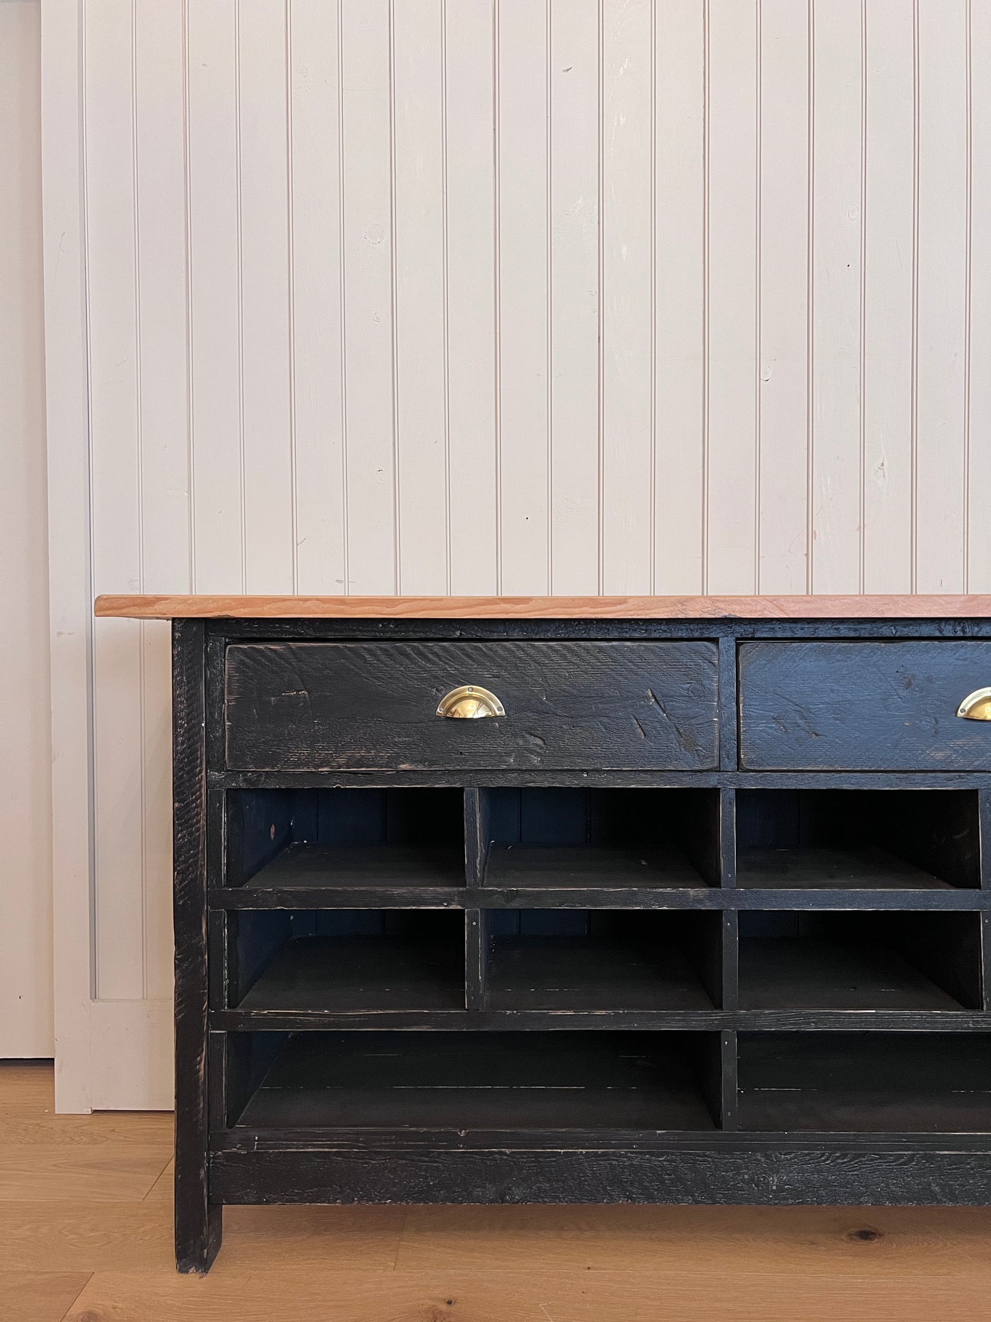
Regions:
<instances>
[{"instance_id":1,"label":"long oak floorboard along bottom edge, in front of cabinet leg","mask_svg":"<svg viewBox=\"0 0 991 1322\"><path fill-rule=\"evenodd\" d=\"M203 1278L96 1273L66 1322L936 1322L987 1318L987 1278L576 1272L226 1270Z\"/></svg>"}]
</instances>

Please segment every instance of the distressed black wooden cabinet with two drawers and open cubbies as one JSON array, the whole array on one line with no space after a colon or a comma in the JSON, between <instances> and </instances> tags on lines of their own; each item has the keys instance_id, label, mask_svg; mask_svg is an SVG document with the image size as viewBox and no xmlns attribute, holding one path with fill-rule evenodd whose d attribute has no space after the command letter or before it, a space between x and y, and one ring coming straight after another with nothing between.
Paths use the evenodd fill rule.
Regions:
<instances>
[{"instance_id":1,"label":"distressed black wooden cabinet with two drawers and open cubbies","mask_svg":"<svg viewBox=\"0 0 991 1322\"><path fill-rule=\"evenodd\" d=\"M991 603L231 600L173 625L181 1270L225 1203L991 1202Z\"/></svg>"}]
</instances>

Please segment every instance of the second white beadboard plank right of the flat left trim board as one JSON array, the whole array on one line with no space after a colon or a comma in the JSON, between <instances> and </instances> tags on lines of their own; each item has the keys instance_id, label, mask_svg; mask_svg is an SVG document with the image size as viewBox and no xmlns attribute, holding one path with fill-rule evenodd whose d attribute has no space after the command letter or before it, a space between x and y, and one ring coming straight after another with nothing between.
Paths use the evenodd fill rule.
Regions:
<instances>
[{"instance_id":1,"label":"second white beadboard plank right of the flat left trim board","mask_svg":"<svg viewBox=\"0 0 991 1322\"><path fill-rule=\"evenodd\" d=\"M190 580L184 21L169 0L133 5L141 580ZM172 649L141 629L144 994L172 995Z\"/></svg>"}]
</instances>

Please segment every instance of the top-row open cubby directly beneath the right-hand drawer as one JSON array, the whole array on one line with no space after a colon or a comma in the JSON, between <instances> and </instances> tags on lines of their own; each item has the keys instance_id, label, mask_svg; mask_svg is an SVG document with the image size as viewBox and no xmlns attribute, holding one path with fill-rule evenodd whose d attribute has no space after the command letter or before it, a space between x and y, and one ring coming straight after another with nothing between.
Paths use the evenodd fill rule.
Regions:
<instances>
[{"instance_id":1,"label":"top-row open cubby directly beneath the right-hand drawer","mask_svg":"<svg viewBox=\"0 0 991 1322\"><path fill-rule=\"evenodd\" d=\"M740 887L980 886L975 789L739 789Z\"/></svg>"}]
</instances>

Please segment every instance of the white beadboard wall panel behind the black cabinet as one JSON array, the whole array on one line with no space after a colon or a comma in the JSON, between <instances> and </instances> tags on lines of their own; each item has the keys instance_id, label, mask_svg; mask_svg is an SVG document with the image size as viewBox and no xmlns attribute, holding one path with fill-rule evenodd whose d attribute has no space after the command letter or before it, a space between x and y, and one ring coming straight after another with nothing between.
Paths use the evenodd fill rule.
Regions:
<instances>
[{"instance_id":1,"label":"white beadboard wall panel behind the black cabinet","mask_svg":"<svg viewBox=\"0 0 991 1322\"><path fill-rule=\"evenodd\" d=\"M44 21L81 624L90 592L991 591L991 0ZM163 1038L63 1105L168 1103L166 633L57 658L91 701L66 986Z\"/></svg>"}]
</instances>

